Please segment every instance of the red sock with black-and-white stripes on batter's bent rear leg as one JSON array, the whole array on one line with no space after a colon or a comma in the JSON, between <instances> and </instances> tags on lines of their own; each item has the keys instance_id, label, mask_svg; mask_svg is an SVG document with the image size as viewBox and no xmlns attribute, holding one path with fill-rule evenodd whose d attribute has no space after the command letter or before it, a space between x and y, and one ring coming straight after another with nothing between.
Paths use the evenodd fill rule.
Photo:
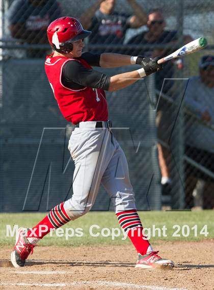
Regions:
<instances>
[{"instance_id":1,"label":"red sock with black-and-white stripes on batter's bent rear leg","mask_svg":"<svg viewBox=\"0 0 214 290\"><path fill-rule=\"evenodd\" d=\"M64 202L53 207L42 221L28 231L26 237L30 243L37 242L35 238L42 239L51 229L59 228L71 220L67 215L63 204Z\"/></svg>"}]
</instances>

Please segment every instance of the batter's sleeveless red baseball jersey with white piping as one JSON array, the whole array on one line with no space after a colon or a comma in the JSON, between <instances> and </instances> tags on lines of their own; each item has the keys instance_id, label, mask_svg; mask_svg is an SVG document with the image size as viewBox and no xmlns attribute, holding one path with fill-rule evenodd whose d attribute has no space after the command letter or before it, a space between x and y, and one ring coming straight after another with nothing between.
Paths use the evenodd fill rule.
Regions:
<instances>
[{"instance_id":1,"label":"batter's sleeveless red baseball jersey with white piping","mask_svg":"<svg viewBox=\"0 0 214 290\"><path fill-rule=\"evenodd\" d=\"M103 90L88 87L72 90L62 84L63 66L68 61L77 61L92 69L81 58L68 59L63 56L52 57L52 55L46 57L45 72L61 113L73 124L82 121L107 121L108 107Z\"/></svg>"}]
</instances>

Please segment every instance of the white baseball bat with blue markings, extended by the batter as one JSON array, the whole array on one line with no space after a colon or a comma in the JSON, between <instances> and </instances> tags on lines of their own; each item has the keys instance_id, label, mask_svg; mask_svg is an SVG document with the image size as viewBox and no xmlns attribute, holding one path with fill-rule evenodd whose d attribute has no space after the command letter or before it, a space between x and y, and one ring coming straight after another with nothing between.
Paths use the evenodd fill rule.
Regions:
<instances>
[{"instance_id":1,"label":"white baseball bat with blue markings, extended by the batter","mask_svg":"<svg viewBox=\"0 0 214 290\"><path fill-rule=\"evenodd\" d=\"M182 47L180 47L176 51L172 52L172 54L170 54L169 56L162 58L162 59L159 59L157 61L157 63L158 64L165 63L169 60L192 54L192 52L198 51L199 49L204 48L206 45L207 45L206 38L199 37L199 38L183 45Z\"/></svg>"}]
</instances>

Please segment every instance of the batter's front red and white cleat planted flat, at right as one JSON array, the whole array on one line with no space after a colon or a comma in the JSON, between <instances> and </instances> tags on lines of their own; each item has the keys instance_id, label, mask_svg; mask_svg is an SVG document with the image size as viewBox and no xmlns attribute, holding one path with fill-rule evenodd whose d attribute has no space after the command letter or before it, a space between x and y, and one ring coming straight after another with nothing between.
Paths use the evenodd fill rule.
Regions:
<instances>
[{"instance_id":1,"label":"batter's front red and white cleat planted flat, at right","mask_svg":"<svg viewBox=\"0 0 214 290\"><path fill-rule=\"evenodd\" d=\"M173 269L174 262L169 259L164 259L157 255L157 252L150 252L144 256L139 254L139 259L137 261L137 264L135 268L141 268L141 269Z\"/></svg>"}]
</instances>

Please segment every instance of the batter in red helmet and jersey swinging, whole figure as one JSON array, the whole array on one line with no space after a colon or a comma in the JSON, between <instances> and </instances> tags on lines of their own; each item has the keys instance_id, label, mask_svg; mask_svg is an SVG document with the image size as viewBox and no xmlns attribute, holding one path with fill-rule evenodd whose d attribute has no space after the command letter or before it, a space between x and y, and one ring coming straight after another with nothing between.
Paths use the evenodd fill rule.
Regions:
<instances>
[{"instance_id":1,"label":"batter in red helmet and jersey swinging, whole figure","mask_svg":"<svg viewBox=\"0 0 214 290\"><path fill-rule=\"evenodd\" d=\"M162 69L162 65L157 63L158 58L106 53L94 55L90 52L82 54L84 39L90 33L73 17L56 19L47 28L53 54L46 58L45 71L63 116L75 125L68 145L75 164L73 195L52 208L32 229L19 228L11 261L14 267L23 267L35 245L51 229L57 229L88 213L102 183L113 202L121 228L137 250L139 258L136 268L172 269L173 261L153 251L143 235L126 157L111 131L104 92L130 86L140 78ZM111 77L92 68L130 64L140 64L142 68ZM116 170L124 178L115 178Z\"/></svg>"}]
</instances>

